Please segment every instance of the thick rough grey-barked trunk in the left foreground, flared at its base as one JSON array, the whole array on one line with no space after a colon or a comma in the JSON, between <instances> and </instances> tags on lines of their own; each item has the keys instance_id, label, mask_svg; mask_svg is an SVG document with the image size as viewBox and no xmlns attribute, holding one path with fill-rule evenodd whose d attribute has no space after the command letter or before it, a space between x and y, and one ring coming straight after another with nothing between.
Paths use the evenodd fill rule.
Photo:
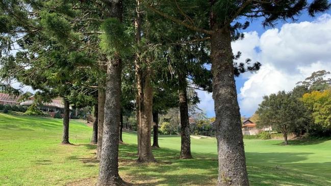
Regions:
<instances>
[{"instance_id":1,"label":"thick rough grey-barked trunk in the left foreground, flared at its base","mask_svg":"<svg viewBox=\"0 0 331 186\"><path fill-rule=\"evenodd\" d=\"M110 17L122 21L122 0L103 1ZM112 59L107 63L106 101L103 142L96 186L128 185L118 174L118 146L121 101L122 61Z\"/></svg>"}]
</instances>

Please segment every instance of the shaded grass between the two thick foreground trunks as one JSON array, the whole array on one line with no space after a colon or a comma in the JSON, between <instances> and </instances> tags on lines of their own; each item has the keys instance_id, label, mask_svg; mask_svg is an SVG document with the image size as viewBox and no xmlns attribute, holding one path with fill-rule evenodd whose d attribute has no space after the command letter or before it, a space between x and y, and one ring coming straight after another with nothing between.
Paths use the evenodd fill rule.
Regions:
<instances>
[{"instance_id":1,"label":"shaded grass between the two thick foreground trunks","mask_svg":"<svg viewBox=\"0 0 331 186\"><path fill-rule=\"evenodd\" d=\"M120 145L120 170L132 176L134 185L214 185L216 182L217 158L196 154L194 159L181 160L180 151L160 148L153 149L157 163L139 164L136 151L136 145Z\"/></svg>"}]
</instances>

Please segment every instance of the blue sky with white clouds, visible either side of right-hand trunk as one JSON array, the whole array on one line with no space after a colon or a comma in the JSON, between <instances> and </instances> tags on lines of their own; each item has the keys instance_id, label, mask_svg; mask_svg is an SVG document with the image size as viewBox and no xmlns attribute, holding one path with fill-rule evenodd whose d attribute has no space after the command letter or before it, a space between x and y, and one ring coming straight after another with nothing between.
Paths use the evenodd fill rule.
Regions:
<instances>
[{"instance_id":1,"label":"blue sky with white clouds, visible either side of right-hand trunk","mask_svg":"<svg viewBox=\"0 0 331 186\"><path fill-rule=\"evenodd\" d=\"M328 66L331 66L328 57L331 58L331 55L327 54L330 50L327 52L318 49L319 45L331 44L331 34L328 34L331 32L330 14L331 11L328 11L326 14L310 17L303 13L296 21L278 21L274 28L263 28L262 21L255 20L243 31L245 38L233 43L234 52L242 52L241 60L250 58L252 61L259 61L262 68L257 73L247 72L236 78L242 116L251 116L262 101L263 95L281 90L290 91L296 82L302 81L313 71L331 70L328 69ZM312 31L308 32L310 29ZM300 42L302 44L299 44ZM274 51L274 54L269 51ZM301 59L300 56L305 58ZM254 89L254 86L259 90ZM211 94L197 92L201 100L198 106L208 117L215 116Z\"/></svg>"}]
</instances>

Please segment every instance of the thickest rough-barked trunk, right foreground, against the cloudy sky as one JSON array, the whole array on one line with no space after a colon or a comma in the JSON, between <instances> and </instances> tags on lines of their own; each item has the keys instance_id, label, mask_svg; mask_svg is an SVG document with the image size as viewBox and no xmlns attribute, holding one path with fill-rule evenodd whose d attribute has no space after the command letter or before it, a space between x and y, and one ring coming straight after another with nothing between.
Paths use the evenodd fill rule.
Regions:
<instances>
[{"instance_id":1,"label":"thickest rough-barked trunk, right foreground, against the cloudy sky","mask_svg":"<svg viewBox=\"0 0 331 186\"><path fill-rule=\"evenodd\" d=\"M212 22L213 23L213 22ZM249 185L231 48L231 32L212 25L213 99L218 143L217 185Z\"/></svg>"}]
</instances>

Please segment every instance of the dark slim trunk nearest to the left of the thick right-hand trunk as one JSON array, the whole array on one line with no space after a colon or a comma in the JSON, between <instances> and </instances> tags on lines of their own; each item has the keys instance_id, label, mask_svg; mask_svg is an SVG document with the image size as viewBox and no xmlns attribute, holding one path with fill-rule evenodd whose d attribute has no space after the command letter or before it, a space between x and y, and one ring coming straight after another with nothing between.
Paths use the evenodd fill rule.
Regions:
<instances>
[{"instance_id":1,"label":"dark slim trunk nearest to the left of the thick right-hand trunk","mask_svg":"<svg viewBox=\"0 0 331 186\"><path fill-rule=\"evenodd\" d=\"M192 158L191 154L191 139L190 139L190 122L189 109L187 103L187 83L185 76L179 77L179 98L180 98L180 115L181 115L181 159Z\"/></svg>"}]
</instances>

